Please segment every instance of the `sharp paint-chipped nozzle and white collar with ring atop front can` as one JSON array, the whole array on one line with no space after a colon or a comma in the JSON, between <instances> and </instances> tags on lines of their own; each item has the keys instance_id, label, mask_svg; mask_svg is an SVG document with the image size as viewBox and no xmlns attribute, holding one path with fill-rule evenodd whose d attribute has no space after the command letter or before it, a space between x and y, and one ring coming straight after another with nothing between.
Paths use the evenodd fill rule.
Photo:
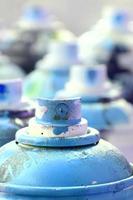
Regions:
<instances>
[{"instance_id":1,"label":"sharp paint-chipped nozzle and white collar with ring atop front can","mask_svg":"<svg viewBox=\"0 0 133 200\"><path fill-rule=\"evenodd\" d=\"M81 146L95 144L99 139L99 133L90 133L87 120L81 118L79 97L37 99L35 118L16 134L18 142L35 146Z\"/></svg>"}]
</instances>

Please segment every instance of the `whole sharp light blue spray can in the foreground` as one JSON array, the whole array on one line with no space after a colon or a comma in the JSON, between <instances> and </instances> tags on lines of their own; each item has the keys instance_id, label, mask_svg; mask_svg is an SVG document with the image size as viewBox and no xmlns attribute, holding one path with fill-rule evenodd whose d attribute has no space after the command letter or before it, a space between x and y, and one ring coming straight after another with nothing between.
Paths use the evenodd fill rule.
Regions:
<instances>
[{"instance_id":1,"label":"whole sharp light blue spray can in the foreground","mask_svg":"<svg viewBox=\"0 0 133 200\"><path fill-rule=\"evenodd\" d=\"M37 105L29 126L0 148L0 199L133 199L132 164L88 127L79 98Z\"/></svg>"}]
</instances>

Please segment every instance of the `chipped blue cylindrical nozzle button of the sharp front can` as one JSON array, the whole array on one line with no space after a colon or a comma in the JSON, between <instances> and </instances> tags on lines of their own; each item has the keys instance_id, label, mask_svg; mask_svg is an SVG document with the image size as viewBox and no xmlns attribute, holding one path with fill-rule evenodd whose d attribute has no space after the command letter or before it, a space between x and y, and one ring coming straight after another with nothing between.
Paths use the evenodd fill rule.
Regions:
<instances>
[{"instance_id":1,"label":"chipped blue cylindrical nozzle button of the sharp front can","mask_svg":"<svg viewBox=\"0 0 133 200\"><path fill-rule=\"evenodd\" d=\"M36 121L44 125L65 127L81 121L80 98L67 100L38 99Z\"/></svg>"}]
</instances>

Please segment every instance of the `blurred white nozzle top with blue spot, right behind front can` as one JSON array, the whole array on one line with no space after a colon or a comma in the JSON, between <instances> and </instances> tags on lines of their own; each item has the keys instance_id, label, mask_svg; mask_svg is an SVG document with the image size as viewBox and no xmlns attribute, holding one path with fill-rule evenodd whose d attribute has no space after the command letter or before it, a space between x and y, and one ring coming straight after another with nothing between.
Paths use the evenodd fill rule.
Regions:
<instances>
[{"instance_id":1,"label":"blurred white nozzle top with blue spot, right behind front can","mask_svg":"<svg viewBox=\"0 0 133 200\"><path fill-rule=\"evenodd\" d=\"M76 88L76 90L75 90ZM64 90L57 92L57 97L81 96L92 101L101 98L116 99L121 96L121 90L113 87L107 78L104 65L81 66L71 68L70 79Z\"/></svg>"}]
</instances>

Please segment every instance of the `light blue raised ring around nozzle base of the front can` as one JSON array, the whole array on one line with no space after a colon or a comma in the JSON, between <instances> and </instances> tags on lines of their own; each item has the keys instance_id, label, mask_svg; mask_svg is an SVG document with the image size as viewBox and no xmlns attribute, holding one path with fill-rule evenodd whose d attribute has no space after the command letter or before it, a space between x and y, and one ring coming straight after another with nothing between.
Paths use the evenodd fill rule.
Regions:
<instances>
[{"instance_id":1,"label":"light blue raised ring around nozzle base of the front can","mask_svg":"<svg viewBox=\"0 0 133 200\"><path fill-rule=\"evenodd\" d=\"M75 137L59 138L59 137L34 137L27 134L26 128L16 133L16 141L24 145L32 145L38 147L79 147L97 144L100 140L99 132L96 129L89 128L88 134Z\"/></svg>"}]
</instances>

